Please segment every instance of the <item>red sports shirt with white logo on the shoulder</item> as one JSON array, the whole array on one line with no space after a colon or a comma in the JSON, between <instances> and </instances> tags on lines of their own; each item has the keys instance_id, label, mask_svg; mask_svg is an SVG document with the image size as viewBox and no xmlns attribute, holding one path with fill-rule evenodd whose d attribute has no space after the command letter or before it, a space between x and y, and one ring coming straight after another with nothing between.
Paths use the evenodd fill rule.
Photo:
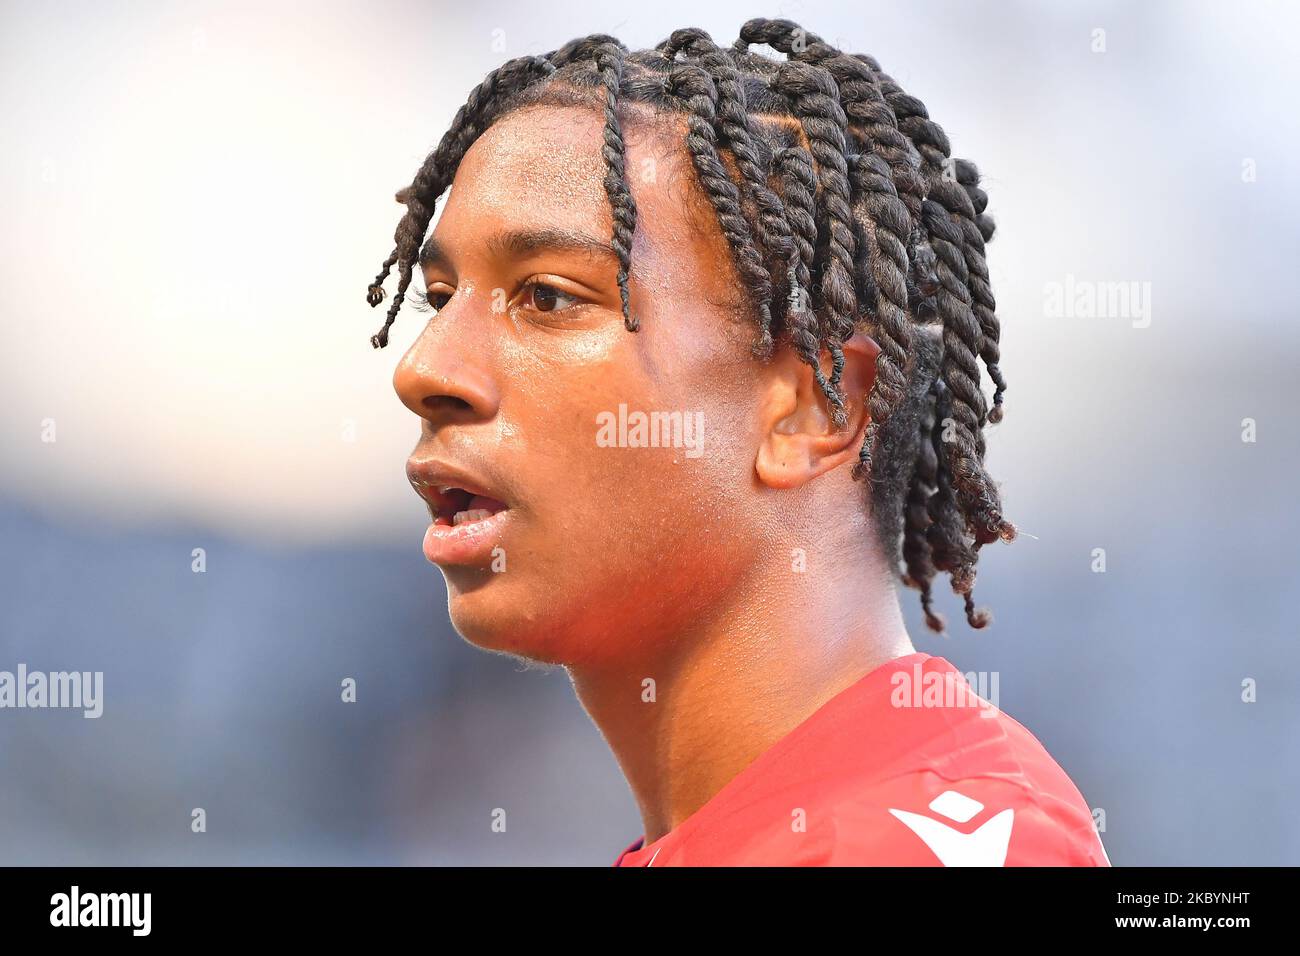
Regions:
<instances>
[{"instance_id":1,"label":"red sports shirt with white logo on the shoulder","mask_svg":"<svg viewBox=\"0 0 1300 956\"><path fill-rule=\"evenodd\" d=\"M641 844L614 865L1110 865L1043 744L930 654L861 678Z\"/></svg>"}]
</instances>

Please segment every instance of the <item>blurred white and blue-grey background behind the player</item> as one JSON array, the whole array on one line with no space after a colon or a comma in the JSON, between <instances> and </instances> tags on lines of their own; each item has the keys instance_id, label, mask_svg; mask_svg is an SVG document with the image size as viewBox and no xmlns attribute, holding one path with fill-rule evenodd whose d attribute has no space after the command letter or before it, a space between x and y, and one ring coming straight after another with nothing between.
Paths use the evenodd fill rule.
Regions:
<instances>
[{"instance_id":1,"label":"blurred white and blue-grey background behind the player","mask_svg":"<svg viewBox=\"0 0 1300 956\"><path fill-rule=\"evenodd\" d=\"M0 711L0 862L606 865L640 834L563 671L451 631L389 385L419 323L372 351L363 289L499 61L753 16L880 59L998 222L989 458L1036 537L985 551L989 631L907 593L918 648L1000 672L1117 865L1300 862L1300 13L1262 0L4 4L0 670L107 700ZM1149 326L1050 317L1067 276L1149 282Z\"/></svg>"}]
</instances>

